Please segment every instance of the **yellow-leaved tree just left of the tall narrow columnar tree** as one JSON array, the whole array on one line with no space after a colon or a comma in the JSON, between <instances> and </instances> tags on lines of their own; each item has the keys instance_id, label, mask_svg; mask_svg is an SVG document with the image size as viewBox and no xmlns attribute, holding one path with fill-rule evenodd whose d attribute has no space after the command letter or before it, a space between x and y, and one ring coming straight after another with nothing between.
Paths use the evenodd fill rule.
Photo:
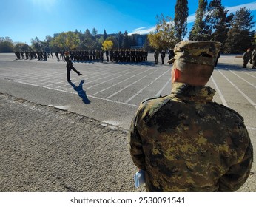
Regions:
<instances>
[{"instance_id":1,"label":"yellow-leaved tree just left of the tall narrow columnar tree","mask_svg":"<svg viewBox=\"0 0 256 207\"><path fill-rule=\"evenodd\" d=\"M157 50L167 50L174 47L178 39L175 38L172 18L169 16L164 17L161 14L161 16L156 16L156 19L158 22L155 26L155 31L148 35L150 46Z\"/></svg>"}]
</instances>

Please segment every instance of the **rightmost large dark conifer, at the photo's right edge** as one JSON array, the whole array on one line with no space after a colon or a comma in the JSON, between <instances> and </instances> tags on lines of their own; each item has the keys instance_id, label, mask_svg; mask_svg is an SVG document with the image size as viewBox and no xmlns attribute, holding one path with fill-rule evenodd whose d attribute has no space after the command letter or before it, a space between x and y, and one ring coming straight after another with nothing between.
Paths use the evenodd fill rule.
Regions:
<instances>
[{"instance_id":1,"label":"rightmost large dark conifer, at the photo's right edge","mask_svg":"<svg viewBox=\"0 0 256 207\"><path fill-rule=\"evenodd\" d=\"M255 31L251 31L255 22L250 10L240 8L232 19L225 44L226 53L241 53L252 47Z\"/></svg>"}]
</instances>

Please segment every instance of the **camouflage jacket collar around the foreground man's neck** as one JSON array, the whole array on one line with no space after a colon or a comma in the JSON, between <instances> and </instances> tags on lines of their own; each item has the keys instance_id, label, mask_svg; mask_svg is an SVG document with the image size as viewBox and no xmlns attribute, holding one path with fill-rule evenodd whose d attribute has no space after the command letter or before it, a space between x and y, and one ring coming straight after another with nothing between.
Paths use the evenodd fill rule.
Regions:
<instances>
[{"instance_id":1,"label":"camouflage jacket collar around the foreground man's neck","mask_svg":"<svg viewBox=\"0 0 256 207\"><path fill-rule=\"evenodd\" d=\"M191 86L183 83L173 83L171 95L187 101L212 101L215 89L209 86Z\"/></svg>"}]
</instances>

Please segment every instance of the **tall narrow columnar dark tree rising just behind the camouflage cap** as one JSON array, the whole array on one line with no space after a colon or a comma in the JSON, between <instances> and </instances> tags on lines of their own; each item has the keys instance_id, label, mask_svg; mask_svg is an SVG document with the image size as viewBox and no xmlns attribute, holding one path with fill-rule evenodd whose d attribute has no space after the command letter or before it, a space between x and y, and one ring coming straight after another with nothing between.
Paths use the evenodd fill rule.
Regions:
<instances>
[{"instance_id":1,"label":"tall narrow columnar dark tree rising just behind the camouflage cap","mask_svg":"<svg viewBox=\"0 0 256 207\"><path fill-rule=\"evenodd\" d=\"M207 0L199 0L198 10L195 12L195 23L189 33L189 40L206 41L206 23L204 18L206 16Z\"/></svg>"}]
</instances>

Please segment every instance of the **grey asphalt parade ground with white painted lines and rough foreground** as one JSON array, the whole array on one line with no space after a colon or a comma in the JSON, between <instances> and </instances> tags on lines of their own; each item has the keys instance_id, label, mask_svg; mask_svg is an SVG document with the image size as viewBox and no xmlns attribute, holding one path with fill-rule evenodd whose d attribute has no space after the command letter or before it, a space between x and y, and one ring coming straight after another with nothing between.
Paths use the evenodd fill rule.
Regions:
<instances>
[{"instance_id":1,"label":"grey asphalt parade ground with white painted lines and rough foreground","mask_svg":"<svg viewBox=\"0 0 256 207\"><path fill-rule=\"evenodd\" d=\"M169 94L171 66L152 54L135 64L73 66L83 75L71 71L69 83L55 56L0 54L0 191L144 191L133 186L127 132L141 101ZM241 66L221 55L207 86L243 116L255 149L256 69ZM255 172L254 162L239 191L256 191Z\"/></svg>"}]
</instances>

